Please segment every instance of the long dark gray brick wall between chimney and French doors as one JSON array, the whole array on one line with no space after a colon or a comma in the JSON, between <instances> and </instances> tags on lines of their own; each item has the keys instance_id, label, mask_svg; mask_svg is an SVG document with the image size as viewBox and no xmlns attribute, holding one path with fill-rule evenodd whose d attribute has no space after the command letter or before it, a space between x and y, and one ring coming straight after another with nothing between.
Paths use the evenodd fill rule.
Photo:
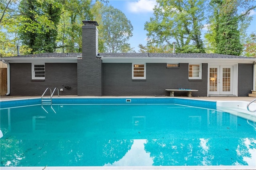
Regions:
<instances>
[{"instance_id":1,"label":"long dark gray brick wall between chimney and French doors","mask_svg":"<svg viewBox=\"0 0 256 170\"><path fill-rule=\"evenodd\" d=\"M132 80L132 63L103 63L102 69L103 96L169 96L167 88L196 89L192 96L207 96L207 64L202 64L202 80L188 80L188 63L180 63L177 69L167 69L166 63L146 63L143 81Z\"/></svg>"}]
</instances>

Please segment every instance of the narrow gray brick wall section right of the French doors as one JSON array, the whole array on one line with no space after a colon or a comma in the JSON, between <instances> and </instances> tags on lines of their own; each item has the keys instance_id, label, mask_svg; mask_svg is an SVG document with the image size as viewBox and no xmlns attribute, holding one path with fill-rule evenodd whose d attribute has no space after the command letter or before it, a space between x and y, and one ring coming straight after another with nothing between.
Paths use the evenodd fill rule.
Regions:
<instances>
[{"instance_id":1,"label":"narrow gray brick wall section right of the French doors","mask_svg":"<svg viewBox=\"0 0 256 170\"><path fill-rule=\"evenodd\" d=\"M238 96L246 97L253 89L253 64L238 64Z\"/></svg>"}]
</instances>

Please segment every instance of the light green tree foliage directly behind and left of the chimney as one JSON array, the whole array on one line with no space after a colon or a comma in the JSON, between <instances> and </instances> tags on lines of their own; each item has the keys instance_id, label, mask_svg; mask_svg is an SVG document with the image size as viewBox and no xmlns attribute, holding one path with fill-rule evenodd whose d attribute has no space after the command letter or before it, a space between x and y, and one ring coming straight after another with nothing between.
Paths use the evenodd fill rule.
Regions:
<instances>
[{"instance_id":1,"label":"light green tree foliage directly behind and left of the chimney","mask_svg":"<svg viewBox=\"0 0 256 170\"><path fill-rule=\"evenodd\" d=\"M82 52L82 20L92 20L91 0L63 1L57 52Z\"/></svg>"}]
</instances>

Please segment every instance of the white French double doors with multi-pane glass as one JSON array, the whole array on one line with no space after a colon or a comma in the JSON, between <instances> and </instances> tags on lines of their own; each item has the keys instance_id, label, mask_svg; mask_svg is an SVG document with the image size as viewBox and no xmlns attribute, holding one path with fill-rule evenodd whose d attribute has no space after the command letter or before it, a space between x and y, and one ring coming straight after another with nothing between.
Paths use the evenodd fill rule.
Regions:
<instances>
[{"instance_id":1,"label":"white French double doors with multi-pane glass","mask_svg":"<svg viewBox=\"0 0 256 170\"><path fill-rule=\"evenodd\" d=\"M233 66L210 66L210 94L233 94Z\"/></svg>"}]
</instances>

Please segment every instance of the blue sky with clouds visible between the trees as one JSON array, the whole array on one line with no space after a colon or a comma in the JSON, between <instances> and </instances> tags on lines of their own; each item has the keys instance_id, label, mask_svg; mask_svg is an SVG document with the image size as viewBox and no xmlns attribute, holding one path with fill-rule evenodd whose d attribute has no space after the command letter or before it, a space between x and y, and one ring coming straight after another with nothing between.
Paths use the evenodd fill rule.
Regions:
<instances>
[{"instance_id":1,"label":"blue sky with clouds visible between the trees","mask_svg":"<svg viewBox=\"0 0 256 170\"><path fill-rule=\"evenodd\" d=\"M128 20L131 21L133 36L128 43L130 43L131 47L133 47L137 53L140 49L138 45L146 45L147 43L147 31L144 30L144 24L146 21L150 21L150 17L153 16L153 8L156 5L156 0L109 0L108 4L121 10ZM247 29L248 34L256 31L256 10L252 11L250 16L253 16L253 20ZM206 21L203 24L206 24ZM202 37L206 31L206 28L202 30Z\"/></svg>"}]
</instances>

